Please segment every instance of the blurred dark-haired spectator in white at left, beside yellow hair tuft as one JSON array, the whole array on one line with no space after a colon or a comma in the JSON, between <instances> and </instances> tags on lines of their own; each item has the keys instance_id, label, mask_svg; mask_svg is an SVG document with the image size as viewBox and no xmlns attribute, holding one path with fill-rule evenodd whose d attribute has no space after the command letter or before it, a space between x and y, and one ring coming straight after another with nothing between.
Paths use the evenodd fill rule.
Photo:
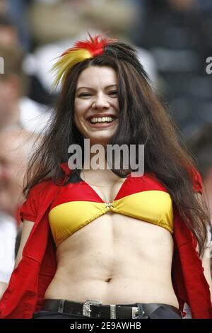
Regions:
<instances>
[{"instance_id":1,"label":"blurred dark-haired spectator in white at left, beside yellow hair tuft","mask_svg":"<svg viewBox=\"0 0 212 333\"><path fill-rule=\"evenodd\" d=\"M18 47L1 47L4 74L0 74L0 130L20 127L40 132L47 125L50 112L26 97L27 77L23 73L23 52Z\"/></svg>"}]
</instances>

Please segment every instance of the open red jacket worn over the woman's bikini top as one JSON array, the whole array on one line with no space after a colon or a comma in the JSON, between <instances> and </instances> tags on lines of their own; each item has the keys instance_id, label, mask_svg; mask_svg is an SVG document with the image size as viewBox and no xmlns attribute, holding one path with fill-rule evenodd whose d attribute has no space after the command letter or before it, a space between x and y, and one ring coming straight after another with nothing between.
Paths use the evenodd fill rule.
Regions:
<instances>
[{"instance_id":1,"label":"open red jacket worn over the woman's bikini top","mask_svg":"<svg viewBox=\"0 0 212 333\"><path fill-rule=\"evenodd\" d=\"M63 167L63 169L66 169ZM66 170L66 174L69 171ZM59 193L61 186L52 181L42 181L32 188L28 196L32 214L37 216L33 230L23 249L23 259L13 271L0 302L0 318L31 318L40 310L45 290L56 272L55 246L49 231L49 206ZM201 192L201 181L197 177L194 191ZM23 204L23 210L24 210ZM179 301L180 310L187 303L193 318L212 318L208 283L204 277L201 260L194 247L192 233L184 224L174 207L174 244L172 261L172 283Z\"/></svg>"}]
</instances>

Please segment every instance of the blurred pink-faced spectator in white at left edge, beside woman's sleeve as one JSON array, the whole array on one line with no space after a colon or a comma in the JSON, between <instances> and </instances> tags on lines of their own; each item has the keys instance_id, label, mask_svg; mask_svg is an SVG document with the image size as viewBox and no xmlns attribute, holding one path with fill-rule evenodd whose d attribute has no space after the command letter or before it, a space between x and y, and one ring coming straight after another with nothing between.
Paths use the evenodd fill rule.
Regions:
<instances>
[{"instance_id":1,"label":"blurred pink-faced spectator in white at left edge, beside woman's sleeve","mask_svg":"<svg viewBox=\"0 0 212 333\"><path fill-rule=\"evenodd\" d=\"M8 282L15 261L18 207L23 177L37 136L25 130L0 132L0 281Z\"/></svg>"}]
</instances>

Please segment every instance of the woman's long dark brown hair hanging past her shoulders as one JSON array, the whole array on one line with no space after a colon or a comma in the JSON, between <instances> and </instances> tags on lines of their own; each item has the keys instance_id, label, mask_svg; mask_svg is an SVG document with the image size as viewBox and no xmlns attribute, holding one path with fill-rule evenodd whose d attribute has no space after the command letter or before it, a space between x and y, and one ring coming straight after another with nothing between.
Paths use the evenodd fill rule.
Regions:
<instances>
[{"instance_id":1,"label":"woman's long dark brown hair hanging past her shoulders","mask_svg":"<svg viewBox=\"0 0 212 333\"><path fill-rule=\"evenodd\" d=\"M30 161L25 195L43 179L57 183L64 176L60 164L69 159L69 145L78 143L83 149L83 137L73 122L73 105L78 76L89 66L108 66L117 72L119 125L110 143L145 145L145 171L153 172L167 188L202 254L209 214L192 191L194 161L179 139L175 123L153 94L136 51L124 43L107 45L103 55L75 64L66 74L52 123ZM122 170L113 171L123 176ZM79 179L75 169L69 181Z\"/></svg>"}]
</instances>

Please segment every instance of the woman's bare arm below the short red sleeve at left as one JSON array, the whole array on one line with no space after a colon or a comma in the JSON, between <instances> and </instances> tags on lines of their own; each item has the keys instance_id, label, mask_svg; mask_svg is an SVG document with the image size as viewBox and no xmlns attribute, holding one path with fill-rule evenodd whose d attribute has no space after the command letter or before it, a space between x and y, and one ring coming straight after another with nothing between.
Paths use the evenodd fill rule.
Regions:
<instances>
[{"instance_id":1,"label":"woman's bare arm below the short red sleeve at left","mask_svg":"<svg viewBox=\"0 0 212 333\"><path fill-rule=\"evenodd\" d=\"M24 222L23 222L23 229L21 232L21 239L20 239L20 247L18 249L18 254L16 256L16 262L15 262L14 269L16 269L20 260L22 259L23 248L25 247L25 243L28 240L31 230L33 229L33 225L34 225L34 222L31 222L31 221L24 220ZM8 286L8 283L0 282L0 300L7 288L7 286Z\"/></svg>"}]
</instances>

